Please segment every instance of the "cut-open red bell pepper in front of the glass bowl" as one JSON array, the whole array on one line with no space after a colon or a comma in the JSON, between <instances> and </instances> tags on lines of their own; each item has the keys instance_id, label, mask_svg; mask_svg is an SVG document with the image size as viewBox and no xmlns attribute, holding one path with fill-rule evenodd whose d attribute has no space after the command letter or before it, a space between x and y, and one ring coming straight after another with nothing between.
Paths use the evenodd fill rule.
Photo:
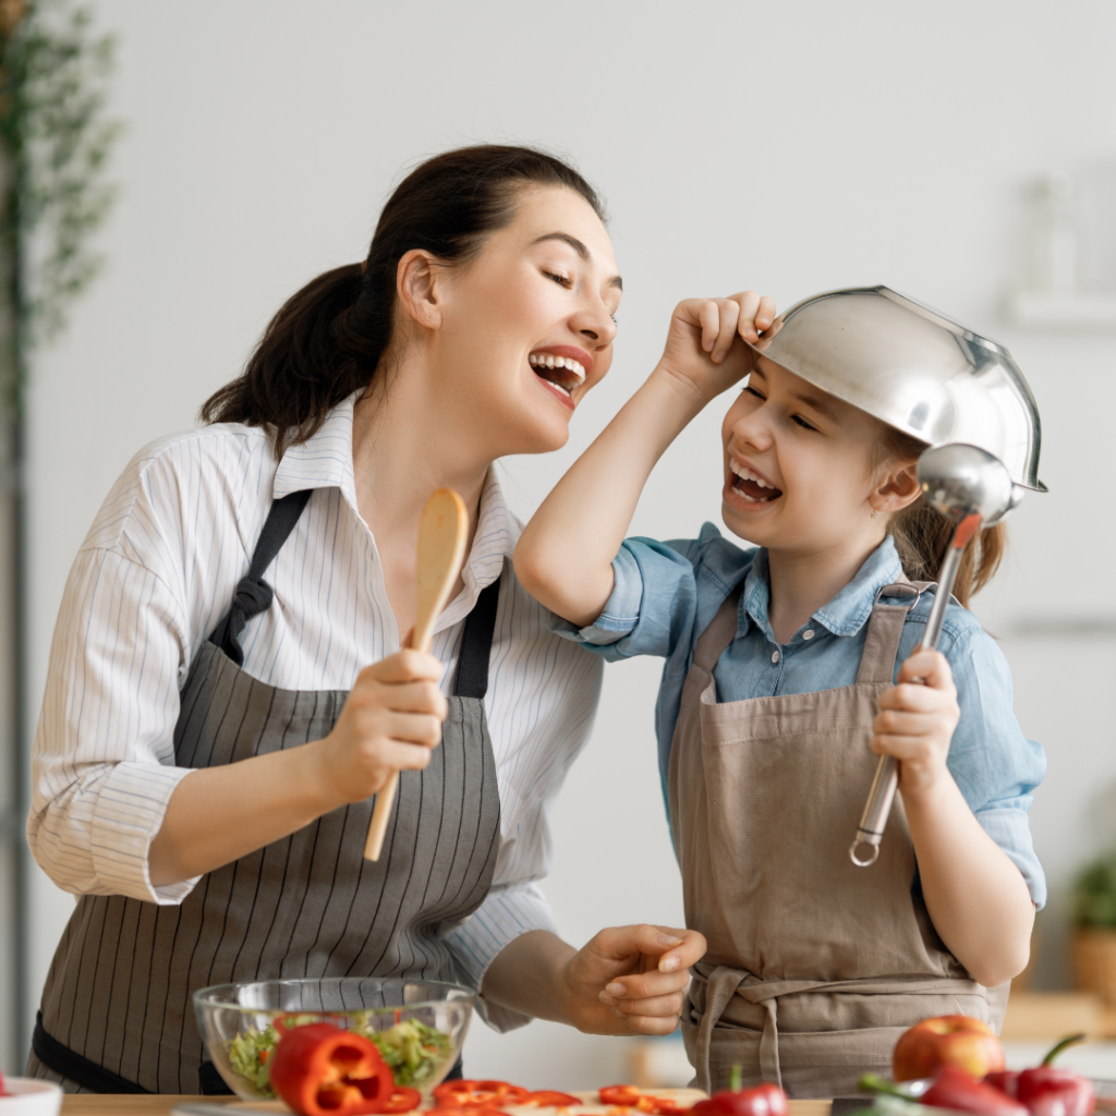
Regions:
<instances>
[{"instance_id":1,"label":"cut-open red bell pepper in front of the glass bowl","mask_svg":"<svg viewBox=\"0 0 1116 1116\"><path fill-rule=\"evenodd\" d=\"M363 1035L333 1023L280 1028L271 1085L301 1116L363 1116L383 1112L395 1079Z\"/></svg>"}]
</instances>

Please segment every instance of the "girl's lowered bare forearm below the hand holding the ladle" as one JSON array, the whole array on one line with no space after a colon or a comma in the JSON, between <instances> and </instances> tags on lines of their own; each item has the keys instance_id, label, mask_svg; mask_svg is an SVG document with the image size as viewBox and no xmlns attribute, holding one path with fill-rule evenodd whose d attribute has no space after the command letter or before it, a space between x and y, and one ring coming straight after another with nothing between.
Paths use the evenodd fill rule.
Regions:
<instances>
[{"instance_id":1,"label":"girl's lowered bare forearm below the hand holding the ladle","mask_svg":"<svg viewBox=\"0 0 1116 1116\"><path fill-rule=\"evenodd\" d=\"M1019 975L1035 904L1027 882L946 776L904 799L926 910L942 941L985 988Z\"/></svg>"}]
</instances>

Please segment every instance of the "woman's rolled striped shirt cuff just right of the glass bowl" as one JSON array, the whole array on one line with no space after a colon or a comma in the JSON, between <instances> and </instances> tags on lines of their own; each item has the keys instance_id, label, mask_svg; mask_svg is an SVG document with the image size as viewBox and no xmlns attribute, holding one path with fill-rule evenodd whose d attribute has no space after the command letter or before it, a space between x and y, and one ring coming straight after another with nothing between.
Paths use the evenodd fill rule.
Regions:
<instances>
[{"instance_id":1,"label":"woman's rolled striped shirt cuff just right of the glass bowl","mask_svg":"<svg viewBox=\"0 0 1116 1116\"><path fill-rule=\"evenodd\" d=\"M446 943L458 963L464 983L480 989L484 973L504 946L520 934L548 930L558 934L550 904L535 884L494 886L484 902L460 926L446 935ZM530 1016L510 1011L478 998L481 1018L498 1031L526 1027Z\"/></svg>"}]
</instances>

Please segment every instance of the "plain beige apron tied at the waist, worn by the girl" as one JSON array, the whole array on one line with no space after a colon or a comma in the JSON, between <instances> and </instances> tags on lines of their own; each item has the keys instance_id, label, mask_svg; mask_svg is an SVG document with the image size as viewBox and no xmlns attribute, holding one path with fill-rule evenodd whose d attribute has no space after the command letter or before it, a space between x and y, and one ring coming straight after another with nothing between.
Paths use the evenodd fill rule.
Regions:
<instances>
[{"instance_id":1,"label":"plain beige apron tied at the waist, worn by the girl","mask_svg":"<svg viewBox=\"0 0 1116 1116\"><path fill-rule=\"evenodd\" d=\"M745 1085L848 1095L860 1074L889 1071L921 1019L962 1013L999 1030L1008 987L978 984L911 892L898 796L879 859L858 868L848 857L876 767L876 700L923 587L881 590L856 683L839 690L718 703L712 671L742 587L698 641L668 789L686 925L709 940L682 1012L700 1088L723 1088L742 1065ZM897 594L902 604L883 603Z\"/></svg>"}]
</instances>

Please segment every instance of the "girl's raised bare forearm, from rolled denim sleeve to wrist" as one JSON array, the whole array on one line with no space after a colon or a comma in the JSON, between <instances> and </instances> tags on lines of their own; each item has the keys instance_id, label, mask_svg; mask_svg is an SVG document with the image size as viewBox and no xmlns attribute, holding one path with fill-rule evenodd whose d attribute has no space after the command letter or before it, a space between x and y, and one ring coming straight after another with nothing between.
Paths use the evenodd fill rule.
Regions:
<instances>
[{"instance_id":1,"label":"girl's raised bare forearm, from rolled denim sleeve to wrist","mask_svg":"<svg viewBox=\"0 0 1116 1116\"><path fill-rule=\"evenodd\" d=\"M523 529L516 576L528 593L578 626L600 615L643 487L704 402L671 373L651 374Z\"/></svg>"}]
</instances>

